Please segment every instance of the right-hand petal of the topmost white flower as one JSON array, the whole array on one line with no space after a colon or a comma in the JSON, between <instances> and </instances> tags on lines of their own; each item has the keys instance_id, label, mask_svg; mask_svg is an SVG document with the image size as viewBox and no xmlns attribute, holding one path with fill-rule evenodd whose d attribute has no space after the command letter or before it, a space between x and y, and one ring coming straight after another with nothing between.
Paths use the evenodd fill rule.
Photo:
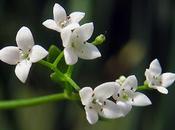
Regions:
<instances>
[{"instance_id":1,"label":"right-hand petal of the topmost white flower","mask_svg":"<svg viewBox=\"0 0 175 130\"><path fill-rule=\"evenodd\" d=\"M78 23L82 18L84 18L85 13L83 12L73 12L70 15L70 19L72 23Z\"/></svg>"}]
</instances>

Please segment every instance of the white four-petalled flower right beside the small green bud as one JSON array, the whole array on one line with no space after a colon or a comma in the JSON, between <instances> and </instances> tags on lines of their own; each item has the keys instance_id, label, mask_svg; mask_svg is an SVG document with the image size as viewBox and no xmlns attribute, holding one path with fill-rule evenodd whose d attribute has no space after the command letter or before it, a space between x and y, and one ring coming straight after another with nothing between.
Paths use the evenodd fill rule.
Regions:
<instances>
[{"instance_id":1,"label":"white four-petalled flower right beside the small green bud","mask_svg":"<svg viewBox=\"0 0 175 130\"><path fill-rule=\"evenodd\" d=\"M61 38L65 47L64 56L67 64L75 64L78 61L78 57L88 60L101 56L97 47L87 42L93 30L93 23L86 23L73 30L67 28L62 31Z\"/></svg>"}]
</instances>

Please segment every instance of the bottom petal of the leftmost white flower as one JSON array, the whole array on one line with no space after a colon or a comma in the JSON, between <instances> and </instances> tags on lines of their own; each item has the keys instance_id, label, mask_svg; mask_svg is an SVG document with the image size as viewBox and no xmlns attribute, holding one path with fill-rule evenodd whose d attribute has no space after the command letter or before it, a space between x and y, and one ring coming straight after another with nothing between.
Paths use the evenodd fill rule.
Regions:
<instances>
[{"instance_id":1,"label":"bottom petal of the leftmost white flower","mask_svg":"<svg viewBox=\"0 0 175 130\"><path fill-rule=\"evenodd\" d=\"M28 60L23 60L16 65L15 74L21 82L26 82L31 66L32 63Z\"/></svg>"}]
</instances>

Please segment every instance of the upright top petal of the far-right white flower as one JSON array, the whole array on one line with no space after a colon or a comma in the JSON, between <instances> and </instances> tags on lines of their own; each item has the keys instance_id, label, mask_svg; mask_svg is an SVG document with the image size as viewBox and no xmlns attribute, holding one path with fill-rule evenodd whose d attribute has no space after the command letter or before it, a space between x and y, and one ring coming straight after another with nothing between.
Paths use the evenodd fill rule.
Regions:
<instances>
[{"instance_id":1,"label":"upright top petal of the far-right white flower","mask_svg":"<svg viewBox=\"0 0 175 130\"><path fill-rule=\"evenodd\" d=\"M161 68L160 63L157 59L155 59L151 62L149 70L151 71L151 73L153 73L156 76L158 76L162 73L162 68Z\"/></svg>"}]
</instances>

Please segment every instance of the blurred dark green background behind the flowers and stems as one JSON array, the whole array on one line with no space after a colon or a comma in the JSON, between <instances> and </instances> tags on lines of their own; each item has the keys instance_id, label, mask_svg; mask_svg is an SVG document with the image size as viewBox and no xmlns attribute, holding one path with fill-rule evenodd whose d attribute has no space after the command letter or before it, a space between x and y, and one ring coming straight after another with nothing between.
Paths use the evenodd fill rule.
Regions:
<instances>
[{"instance_id":1,"label":"blurred dark green background behind the flowers and stems","mask_svg":"<svg viewBox=\"0 0 175 130\"><path fill-rule=\"evenodd\" d=\"M121 74L136 74L140 84L144 71L158 58L164 72L175 72L174 0L0 0L0 47L15 45L22 26L31 29L35 43L46 49L51 44L62 48L60 36L42 25L52 18L54 3L66 11L86 12L81 23L94 22L93 38L104 33L107 41L99 46L102 57L80 60L74 79L96 87L114 81ZM91 39L91 41L93 40ZM34 64L25 85L14 73L14 66L0 62L0 99L10 100L56 93L59 86L49 79L49 71ZM145 92L153 105L134 107L125 117L88 124L80 103L58 102L30 108L0 110L0 130L174 130L175 85L168 95Z\"/></svg>"}]
</instances>

